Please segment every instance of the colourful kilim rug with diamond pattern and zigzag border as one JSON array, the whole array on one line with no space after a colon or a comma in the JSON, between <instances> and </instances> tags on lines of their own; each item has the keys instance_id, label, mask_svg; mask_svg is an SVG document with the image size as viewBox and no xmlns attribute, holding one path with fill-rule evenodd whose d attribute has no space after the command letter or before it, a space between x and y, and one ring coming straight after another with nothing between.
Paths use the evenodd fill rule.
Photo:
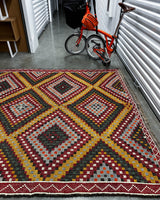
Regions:
<instances>
[{"instance_id":1,"label":"colourful kilim rug with diamond pattern and zigzag border","mask_svg":"<svg viewBox=\"0 0 160 200\"><path fill-rule=\"evenodd\" d=\"M118 70L0 71L0 194L160 195L159 165Z\"/></svg>"}]
</instances>

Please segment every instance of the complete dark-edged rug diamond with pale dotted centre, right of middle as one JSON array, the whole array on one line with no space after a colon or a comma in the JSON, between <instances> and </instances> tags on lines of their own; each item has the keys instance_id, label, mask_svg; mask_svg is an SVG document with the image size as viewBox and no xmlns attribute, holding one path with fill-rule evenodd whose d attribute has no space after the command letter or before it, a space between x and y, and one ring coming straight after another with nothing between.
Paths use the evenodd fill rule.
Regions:
<instances>
[{"instance_id":1,"label":"complete dark-edged rug diamond with pale dotted centre, right of middle","mask_svg":"<svg viewBox=\"0 0 160 200\"><path fill-rule=\"evenodd\" d=\"M92 89L84 97L68 105L68 108L89 123L97 133L102 134L124 106Z\"/></svg>"}]
</instances>

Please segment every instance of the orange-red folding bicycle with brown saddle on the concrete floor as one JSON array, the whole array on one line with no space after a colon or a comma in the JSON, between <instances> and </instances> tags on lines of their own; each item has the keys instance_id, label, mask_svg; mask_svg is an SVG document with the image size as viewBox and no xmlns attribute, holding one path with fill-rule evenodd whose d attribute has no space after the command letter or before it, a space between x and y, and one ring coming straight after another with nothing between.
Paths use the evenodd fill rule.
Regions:
<instances>
[{"instance_id":1,"label":"orange-red folding bicycle with brown saddle on the concrete floor","mask_svg":"<svg viewBox=\"0 0 160 200\"><path fill-rule=\"evenodd\" d=\"M89 3L86 0L86 14L89 13ZM97 27L86 27L82 24L80 31L78 33L71 34L65 41L65 49L68 53L77 55L82 53L85 49L87 54L92 59L98 60L101 59L102 63L106 66L110 64L111 54L116 49L117 42L117 33L122 21L123 15L130 11L133 11L135 8L127 6L123 3L119 3L119 6L122 9L119 22L117 24L116 30L113 35L98 29ZM94 6L94 10L95 6ZM96 18L96 11L95 11ZM96 34L91 34L88 38L83 35L84 30L94 31ZM104 37L103 37L104 36Z\"/></svg>"}]
</instances>

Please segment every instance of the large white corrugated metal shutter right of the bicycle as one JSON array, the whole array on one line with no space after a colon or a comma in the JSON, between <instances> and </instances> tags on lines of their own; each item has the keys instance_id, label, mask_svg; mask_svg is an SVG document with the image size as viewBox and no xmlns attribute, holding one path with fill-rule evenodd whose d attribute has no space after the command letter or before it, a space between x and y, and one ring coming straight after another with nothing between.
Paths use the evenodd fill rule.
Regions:
<instances>
[{"instance_id":1,"label":"large white corrugated metal shutter right of the bicycle","mask_svg":"<svg viewBox=\"0 0 160 200\"><path fill-rule=\"evenodd\" d=\"M125 0L117 53L160 119L160 0Z\"/></svg>"}]
</instances>

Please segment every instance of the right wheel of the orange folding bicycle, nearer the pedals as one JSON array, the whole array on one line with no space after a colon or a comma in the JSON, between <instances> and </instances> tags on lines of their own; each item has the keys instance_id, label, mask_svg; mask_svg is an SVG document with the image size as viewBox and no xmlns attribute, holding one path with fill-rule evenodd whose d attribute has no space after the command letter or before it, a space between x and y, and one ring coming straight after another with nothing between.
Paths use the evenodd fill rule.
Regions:
<instances>
[{"instance_id":1,"label":"right wheel of the orange folding bicycle, nearer the pedals","mask_svg":"<svg viewBox=\"0 0 160 200\"><path fill-rule=\"evenodd\" d=\"M104 40L99 35L90 35L86 40L86 51L88 55L98 60L100 57L97 55L96 52L94 52L94 49L101 49L103 52L101 52L101 57L104 57L105 54L105 43Z\"/></svg>"}]
</instances>

